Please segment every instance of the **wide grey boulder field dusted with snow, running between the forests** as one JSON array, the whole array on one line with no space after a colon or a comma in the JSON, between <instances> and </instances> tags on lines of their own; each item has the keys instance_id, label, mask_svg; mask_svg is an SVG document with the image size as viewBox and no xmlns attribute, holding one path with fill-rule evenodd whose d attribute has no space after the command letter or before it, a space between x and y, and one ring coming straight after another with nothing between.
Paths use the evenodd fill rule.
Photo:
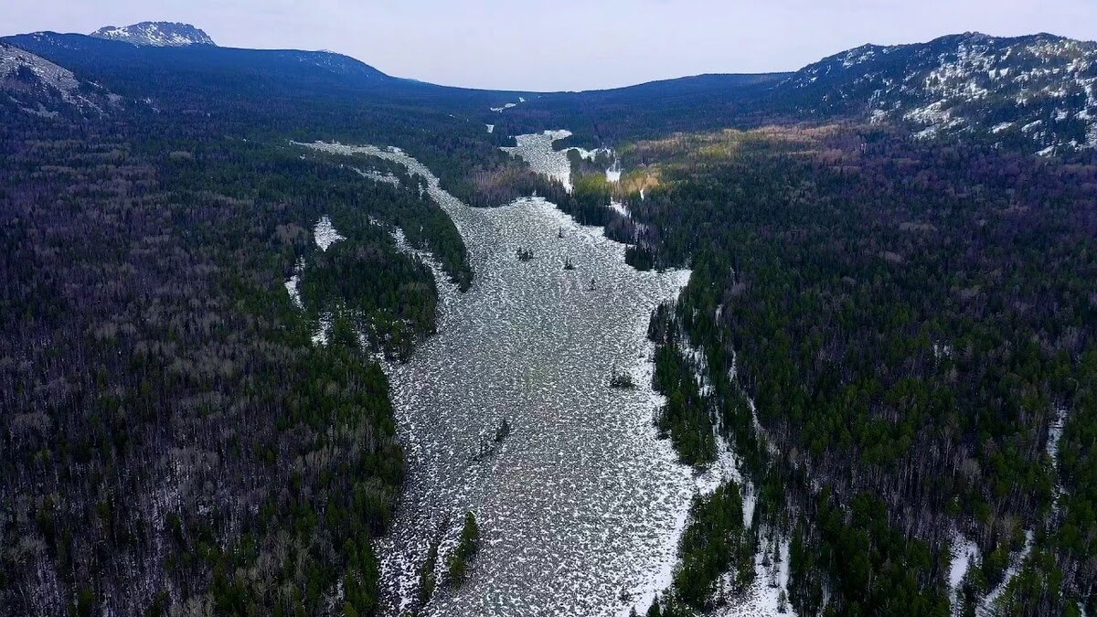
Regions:
<instances>
[{"instance_id":1,"label":"wide grey boulder field dusted with snow, running between the forests","mask_svg":"<svg viewBox=\"0 0 1097 617\"><path fill-rule=\"evenodd\" d=\"M403 153L313 147L384 157L426 178L477 274L464 294L442 289L438 335L388 369L409 464L378 549L394 609L416 606L436 534L444 561L454 523L473 512L484 548L470 581L452 590L443 574L425 614L645 610L669 577L695 490L651 424L659 401L647 318L689 273L632 269L624 245L542 198L472 209ZM636 386L612 388L618 373ZM497 439L504 422L509 434Z\"/></svg>"}]
</instances>

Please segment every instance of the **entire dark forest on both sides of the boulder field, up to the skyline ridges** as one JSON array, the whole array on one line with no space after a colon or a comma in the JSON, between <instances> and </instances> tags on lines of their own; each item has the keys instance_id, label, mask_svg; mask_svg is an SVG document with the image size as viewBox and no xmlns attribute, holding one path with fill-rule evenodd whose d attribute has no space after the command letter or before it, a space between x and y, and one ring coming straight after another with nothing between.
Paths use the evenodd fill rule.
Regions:
<instances>
[{"instance_id":1,"label":"entire dark forest on both sides of the boulder field, up to the skyline ridges","mask_svg":"<svg viewBox=\"0 0 1097 617\"><path fill-rule=\"evenodd\" d=\"M12 48L79 86L0 79L0 616L385 614L408 467L383 364L477 272L423 177L316 141L399 147L473 207L545 198L632 267L691 271L651 316L651 383L604 382L654 389L674 456L733 452L740 478L692 497L647 615L758 585L796 615L1097 613L1097 155L1066 147L1088 116L1020 105L1051 127L1038 155L1005 94L1000 131L927 137L835 102L864 87L837 69L489 112L518 94L336 55ZM561 126L604 148L570 152L570 190L499 149ZM522 437L506 418L493 452ZM411 614L484 566L490 517L461 514Z\"/></svg>"}]
</instances>

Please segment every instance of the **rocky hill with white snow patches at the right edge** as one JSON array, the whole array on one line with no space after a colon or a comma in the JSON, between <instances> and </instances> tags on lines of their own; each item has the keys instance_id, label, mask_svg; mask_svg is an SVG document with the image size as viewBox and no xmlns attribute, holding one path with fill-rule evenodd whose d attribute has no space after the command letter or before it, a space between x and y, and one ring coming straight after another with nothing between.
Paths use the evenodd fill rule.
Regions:
<instances>
[{"instance_id":1,"label":"rocky hill with white snow patches at the right edge","mask_svg":"<svg viewBox=\"0 0 1097 617\"><path fill-rule=\"evenodd\" d=\"M921 137L972 135L1052 155L1097 148L1097 43L1050 34L958 34L866 45L779 86L807 115L911 124Z\"/></svg>"}]
</instances>

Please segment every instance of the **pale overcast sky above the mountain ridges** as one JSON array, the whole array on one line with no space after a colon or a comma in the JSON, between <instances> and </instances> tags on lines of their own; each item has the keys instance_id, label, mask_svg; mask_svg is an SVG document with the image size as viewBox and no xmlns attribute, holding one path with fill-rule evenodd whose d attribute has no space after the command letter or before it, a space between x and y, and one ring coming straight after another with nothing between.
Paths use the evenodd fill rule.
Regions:
<instances>
[{"instance_id":1,"label":"pale overcast sky above the mountain ridges","mask_svg":"<svg viewBox=\"0 0 1097 617\"><path fill-rule=\"evenodd\" d=\"M1097 0L0 0L0 35L179 21L218 45L329 49L473 88L612 88L795 70L979 31L1097 40Z\"/></svg>"}]
</instances>

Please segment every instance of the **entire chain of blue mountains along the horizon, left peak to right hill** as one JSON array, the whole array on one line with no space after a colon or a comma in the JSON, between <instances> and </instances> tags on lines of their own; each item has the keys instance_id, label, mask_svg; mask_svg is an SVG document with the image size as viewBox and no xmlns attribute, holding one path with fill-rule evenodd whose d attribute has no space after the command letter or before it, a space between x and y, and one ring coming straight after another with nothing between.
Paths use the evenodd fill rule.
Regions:
<instances>
[{"instance_id":1,"label":"entire chain of blue mountains along the horizon, left peak to right hill","mask_svg":"<svg viewBox=\"0 0 1097 617\"><path fill-rule=\"evenodd\" d=\"M47 32L4 41L128 99L156 100L165 110L210 111L245 94L344 98L369 91L438 112L487 114L514 99L393 78L330 52L217 47L185 24L145 22L91 37ZM546 114L572 127L576 139L591 143L853 120L904 126L920 138L962 137L1042 155L1097 149L1097 43L1050 34L957 34L911 45L864 45L793 74L705 75L523 96L530 104L508 109L493 122L500 133L543 130Z\"/></svg>"}]
</instances>

